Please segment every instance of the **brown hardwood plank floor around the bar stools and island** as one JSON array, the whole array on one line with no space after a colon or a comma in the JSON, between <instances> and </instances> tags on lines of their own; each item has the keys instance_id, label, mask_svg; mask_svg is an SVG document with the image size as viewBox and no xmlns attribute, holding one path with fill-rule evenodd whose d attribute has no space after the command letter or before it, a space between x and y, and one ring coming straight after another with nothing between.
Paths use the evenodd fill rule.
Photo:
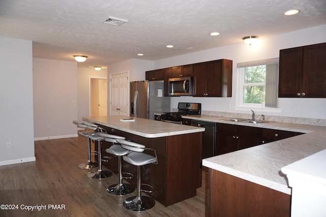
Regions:
<instances>
[{"instance_id":1,"label":"brown hardwood plank floor around the bar stools and island","mask_svg":"<svg viewBox=\"0 0 326 217\"><path fill-rule=\"evenodd\" d=\"M119 182L116 174L90 179L87 170L78 168L78 164L86 162L86 144L84 137L35 141L36 162L0 166L0 204L18 205L15 210L0 210L0 216L205 215L206 172L202 173L202 187L197 189L196 197L168 207L156 202L150 210L132 212L122 206L130 195L106 192L108 186ZM28 206L36 210L26 210Z\"/></svg>"}]
</instances>

